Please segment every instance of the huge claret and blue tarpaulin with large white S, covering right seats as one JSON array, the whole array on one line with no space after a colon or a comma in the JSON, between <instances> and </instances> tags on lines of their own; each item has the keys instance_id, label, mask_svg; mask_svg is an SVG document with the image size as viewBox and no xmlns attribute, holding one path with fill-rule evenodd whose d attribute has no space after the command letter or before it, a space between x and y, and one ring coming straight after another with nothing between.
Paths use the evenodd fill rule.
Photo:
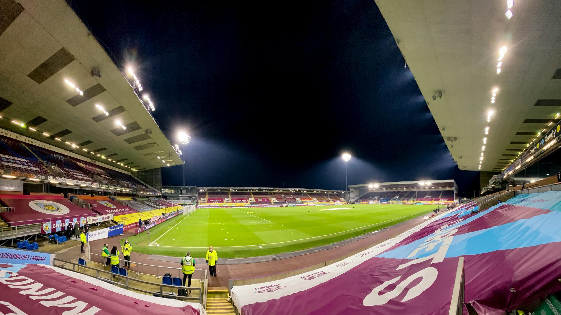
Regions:
<instances>
[{"instance_id":1,"label":"huge claret and blue tarpaulin with large white S, covering right seats","mask_svg":"<svg viewBox=\"0 0 561 315\"><path fill-rule=\"evenodd\" d=\"M234 286L234 304L245 315L449 314L462 259L463 301L479 314L502 315L561 290L561 192L474 206L319 270Z\"/></svg>"}]
</instances>

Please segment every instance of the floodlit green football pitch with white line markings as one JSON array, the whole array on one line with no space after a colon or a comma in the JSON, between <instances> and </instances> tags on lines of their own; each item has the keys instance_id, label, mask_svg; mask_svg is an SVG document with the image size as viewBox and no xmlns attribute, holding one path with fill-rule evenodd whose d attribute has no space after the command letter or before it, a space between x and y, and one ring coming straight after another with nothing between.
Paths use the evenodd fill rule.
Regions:
<instances>
[{"instance_id":1,"label":"floodlit green football pitch with white line markings","mask_svg":"<svg viewBox=\"0 0 561 315\"><path fill-rule=\"evenodd\" d=\"M209 245L219 257L293 252L380 230L427 214L436 205L337 205L197 209L129 240L135 252L204 257Z\"/></svg>"}]
</instances>

